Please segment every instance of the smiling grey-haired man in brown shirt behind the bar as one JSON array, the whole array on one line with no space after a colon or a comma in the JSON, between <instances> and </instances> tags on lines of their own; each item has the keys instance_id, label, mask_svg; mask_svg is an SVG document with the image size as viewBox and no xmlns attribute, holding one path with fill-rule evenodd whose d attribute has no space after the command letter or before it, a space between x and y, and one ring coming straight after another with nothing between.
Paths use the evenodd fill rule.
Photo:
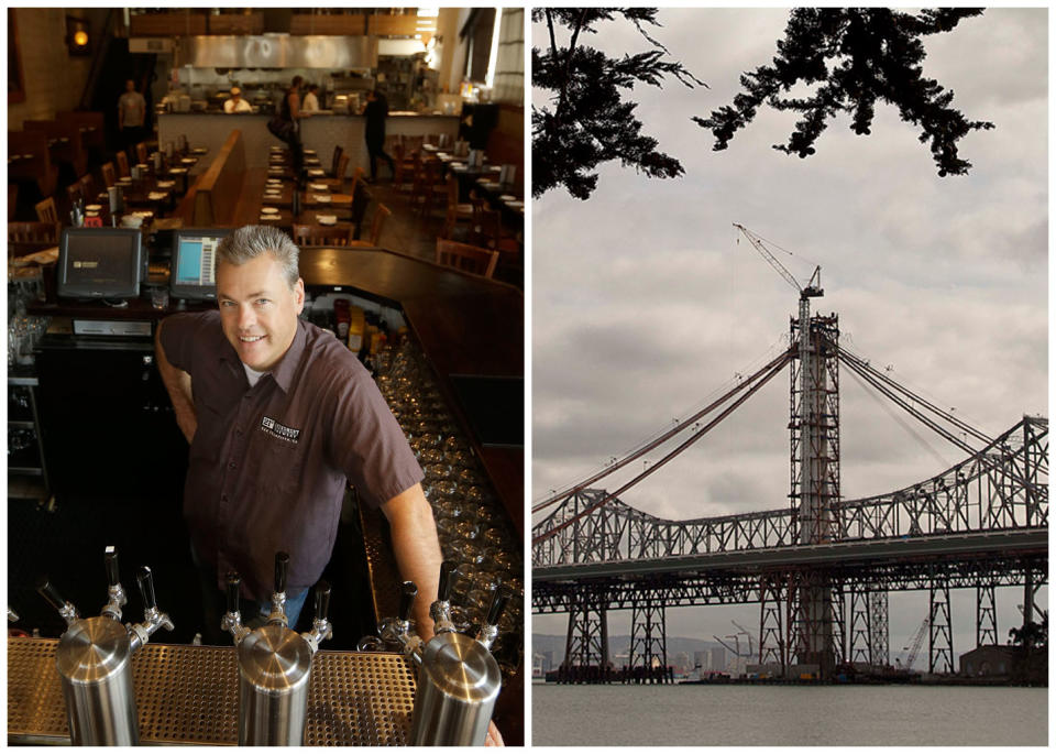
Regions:
<instances>
[{"instance_id":1,"label":"smiling grey-haired man in brown shirt behind the bar","mask_svg":"<svg viewBox=\"0 0 1056 754\"><path fill-rule=\"evenodd\" d=\"M218 310L157 330L157 363L190 444L184 516L202 580L206 635L220 641L221 579L242 576L243 614L271 610L275 553L289 554L290 626L333 550L345 483L381 506L418 632L432 635L440 545L422 472L370 373L331 332L299 318L298 249L250 226L217 249ZM255 604L252 604L255 603Z\"/></svg>"}]
</instances>

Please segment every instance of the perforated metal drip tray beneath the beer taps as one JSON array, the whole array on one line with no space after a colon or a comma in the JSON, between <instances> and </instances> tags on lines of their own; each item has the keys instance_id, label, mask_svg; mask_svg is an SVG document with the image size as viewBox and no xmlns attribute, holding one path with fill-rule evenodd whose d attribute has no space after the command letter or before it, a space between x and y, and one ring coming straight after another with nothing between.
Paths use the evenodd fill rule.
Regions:
<instances>
[{"instance_id":1,"label":"perforated metal drip tray beneath the beer taps","mask_svg":"<svg viewBox=\"0 0 1056 754\"><path fill-rule=\"evenodd\" d=\"M69 743L54 638L8 638L8 743ZM311 660L308 746L407 743L415 676L402 656L320 651ZM140 739L239 741L234 647L148 644L132 658Z\"/></svg>"}]
</instances>

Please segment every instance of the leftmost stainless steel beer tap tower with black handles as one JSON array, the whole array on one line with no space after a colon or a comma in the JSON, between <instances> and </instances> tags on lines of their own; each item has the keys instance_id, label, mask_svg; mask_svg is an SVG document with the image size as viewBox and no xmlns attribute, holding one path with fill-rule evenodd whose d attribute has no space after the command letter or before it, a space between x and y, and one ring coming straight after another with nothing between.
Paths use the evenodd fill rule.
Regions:
<instances>
[{"instance_id":1,"label":"leftmost stainless steel beer tap tower with black handles","mask_svg":"<svg viewBox=\"0 0 1056 754\"><path fill-rule=\"evenodd\" d=\"M42 577L37 591L58 611L68 626L58 642L55 664L63 682L66 719L78 746L134 746L140 743L132 655L158 629L173 630L168 615L157 610L154 578L143 567L136 576L143 597L141 623L121 625L121 607L128 598L118 577L118 553L106 550L109 600L102 614L80 618L77 608L62 598Z\"/></svg>"}]
</instances>

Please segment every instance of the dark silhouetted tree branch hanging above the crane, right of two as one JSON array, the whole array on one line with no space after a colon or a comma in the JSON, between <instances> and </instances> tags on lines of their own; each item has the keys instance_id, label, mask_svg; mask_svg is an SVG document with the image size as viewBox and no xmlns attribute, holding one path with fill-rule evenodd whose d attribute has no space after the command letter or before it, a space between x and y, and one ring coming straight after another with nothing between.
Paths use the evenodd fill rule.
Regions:
<instances>
[{"instance_id":1,"label":"dark silhouetted tree branch hanging above the crane, right of two","mask_svg":"<svg viewBox=\"0 0 1056 754\"><path fill-rule=\"evenodd\" d=\"M899 108L902 120L921 127L920 140L931 142L938 174L964 175L971 163L961 160L957 142L970 131L993 123L967 120L949 107L953 91L922 75L922 36L948 32L979 9L925 9L919 14L887 8L799 8L792 11L785 39L778 42L773 65L740 77L745 92L733 106L694 118L715 134L714 149L724 150L734 134L756 117L760 106L795 110L803 118L787 144L773 147L806 157L826 121L838 112L851 116L851 129L868 134L878 100ZM820 84L813 96L783 97L798 84Z\"/></svg>"}]
</instances>

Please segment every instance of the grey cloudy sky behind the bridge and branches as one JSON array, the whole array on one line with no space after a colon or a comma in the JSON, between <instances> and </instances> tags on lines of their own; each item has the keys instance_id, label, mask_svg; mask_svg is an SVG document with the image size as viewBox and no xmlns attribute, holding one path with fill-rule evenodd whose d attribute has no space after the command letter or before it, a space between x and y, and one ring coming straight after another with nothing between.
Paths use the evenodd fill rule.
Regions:
<instances>
[{"instance_id":1,"label":"grey cloudy sky behind the bridge and branches","mask_svg":"<svg viewBox=\"0 0 1056 754\"><path fill-rule=\"evenodd\" d=\"M625 455L783 347L798 294L737 242L733 222L792 251L781 259L801 280L821 264L825 297L814 304L839 315L842 342L915 392L991 436L1024 413L1048 415L1046 11L989 10L926 40L925 76L952 89L967 118L997 127L960 142L974 167L947 178L916 128L882 103L871 135L837 119L806 160L770 147L795 114L768 109L713 152L691 117L732 101L739 74L771 59L787 19L774 9L661 11L651 33L710 88L671 80L634 98L644 132L685 175L648 179L612 163L587 201L553 190L534 203L532 500ZM630 24L601 29L587 44L647 50ZM845 499L959 460L920 425L925 441L908 433L847 370L842 383ZM783 373L624 502L670 518L784 506L788 393ZM926 594L900 600L892 649L926 610ZM1002 601L1015 612L1015 595ZM955 603L958 653L974 643L972 610ZM669 634L724 635L730 614L758 621L758 605L705 613L671 611ZM1012 620L999 616L1002 633ZM534 631L564 625L537 616Z\"/></svg>"}]
</instances>

